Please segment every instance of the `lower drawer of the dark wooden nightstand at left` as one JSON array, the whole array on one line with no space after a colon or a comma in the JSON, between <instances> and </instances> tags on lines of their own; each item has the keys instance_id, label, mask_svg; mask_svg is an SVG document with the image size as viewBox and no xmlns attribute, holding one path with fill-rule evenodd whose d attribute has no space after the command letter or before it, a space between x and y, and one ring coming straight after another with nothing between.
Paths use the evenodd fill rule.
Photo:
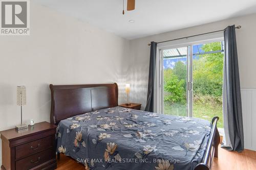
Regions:
<instances>
[{"instance_id":1,"label":"lower drawer of the dark wooden nightstand at left","mask_svg":"<svg viewBox=\"0 0 256 170\"><path fill-rule=\"evenodd\" d=\"M16 161L16 170L27 170L53 158L53 149L48 149Z\"/></svg>"}]
</instances>

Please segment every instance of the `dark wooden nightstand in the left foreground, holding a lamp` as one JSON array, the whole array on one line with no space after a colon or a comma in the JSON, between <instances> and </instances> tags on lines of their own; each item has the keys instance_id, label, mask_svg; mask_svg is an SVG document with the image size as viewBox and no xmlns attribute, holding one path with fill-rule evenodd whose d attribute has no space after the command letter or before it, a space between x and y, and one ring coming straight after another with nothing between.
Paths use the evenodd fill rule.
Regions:
<instances>
[{"instance_id":1,"label":"dark wooden nightstand in the left foreground, holding a lamp","mask_svg":"<svg viewBox=\"0 0 256 170\"><path fill-rule=\"evenodd\" d=\"M2 170L55 169L57 126L41 122L27 130L2 131Z\"/></svg>"}]
</instances>

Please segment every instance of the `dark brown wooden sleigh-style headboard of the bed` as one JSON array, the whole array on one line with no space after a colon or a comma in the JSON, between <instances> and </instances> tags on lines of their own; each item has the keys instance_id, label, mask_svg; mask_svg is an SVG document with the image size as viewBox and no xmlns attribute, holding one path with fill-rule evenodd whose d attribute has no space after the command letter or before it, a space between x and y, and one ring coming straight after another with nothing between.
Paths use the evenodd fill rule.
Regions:
<instances>
[{"instance_id":1,"label":"dark brown wooden sleigh-style headboard of the bed","mask_svg":"<svg viewBox=\"0 0 256 170\"><path fill-rule=\"evenodd\" d=\"M94 110L118 106L118 86L113 84L52 85L51 123Z\"/></svg>"}]
</instances>

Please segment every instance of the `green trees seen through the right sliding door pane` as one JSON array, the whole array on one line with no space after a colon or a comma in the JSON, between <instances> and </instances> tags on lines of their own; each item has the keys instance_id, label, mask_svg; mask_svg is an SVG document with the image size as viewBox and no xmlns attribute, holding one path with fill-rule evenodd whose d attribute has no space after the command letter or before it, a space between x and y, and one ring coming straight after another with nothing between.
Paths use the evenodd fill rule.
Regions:
<instances>
[{"instance_id":1,"label":"green trees seen through the right sliding door pane","mask_svg":"<svg viewBox=\"0 0 256 170\"><path fill-rule=\"evenodd\" d=\"M219 51L221 43L204 44L202 50L204 52ZM198 57L198 60L193 61L194 94L211 95L215 98L222 96L223 54L213 53Z\"/></svg>"}]
</instances>

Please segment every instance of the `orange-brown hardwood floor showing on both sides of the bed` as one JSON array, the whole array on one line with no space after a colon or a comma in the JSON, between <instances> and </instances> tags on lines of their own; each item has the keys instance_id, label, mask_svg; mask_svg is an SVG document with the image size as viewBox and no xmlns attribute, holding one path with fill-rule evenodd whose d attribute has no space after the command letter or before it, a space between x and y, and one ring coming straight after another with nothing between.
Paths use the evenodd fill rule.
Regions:
<instances>
[{"instance_id":1,"label":"orange-brown hardwood floor showing on both sides of the bed","mask_svg":"<svg viewBox=\"0 0 256 170\"><path fill-rule=\"evenodd\" d=\"M84 170L82 164L60 154L57 170L76 169ZM256 151L245 150L242 153L229 152L219 146L219 158L214 158L212 170L254 170L256 169Z\"/></svg>"}]
</instances>

